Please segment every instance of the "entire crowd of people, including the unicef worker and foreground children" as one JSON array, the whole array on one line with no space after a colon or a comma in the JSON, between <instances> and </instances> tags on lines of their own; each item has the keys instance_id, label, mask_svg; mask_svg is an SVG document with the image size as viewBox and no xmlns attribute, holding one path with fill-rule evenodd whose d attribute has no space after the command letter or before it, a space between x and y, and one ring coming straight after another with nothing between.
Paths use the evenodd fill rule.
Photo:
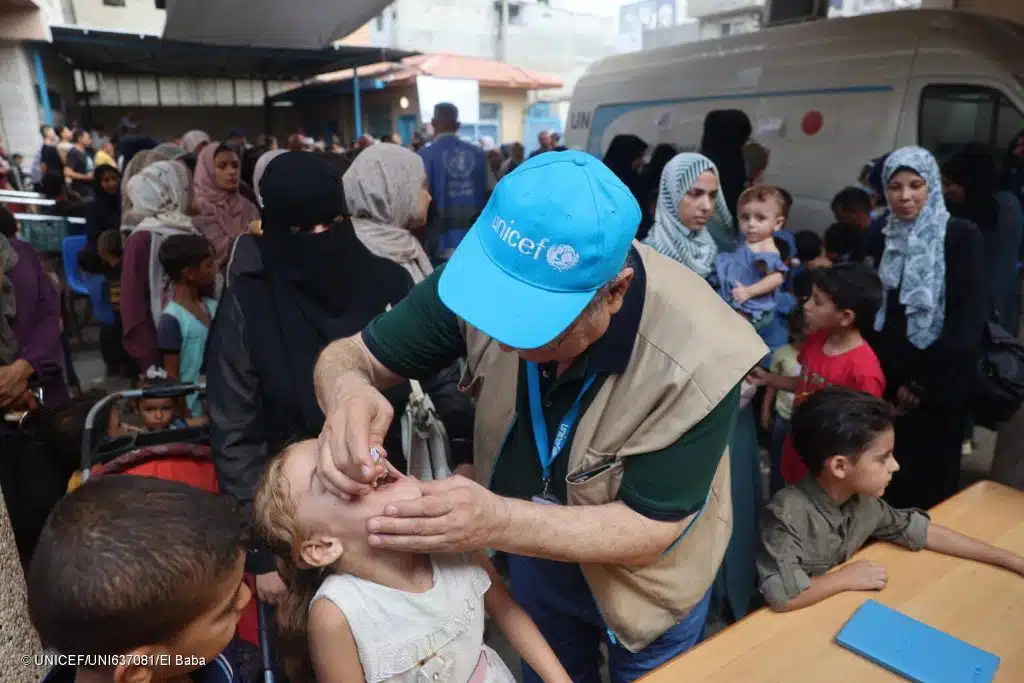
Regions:
<instances>
[{"instance_id":1,"label":"entire crowd of people, including the unicef worker and foreground children","mask_svg":"<svg viewBox=\"0 0 1024 683\"><path fill-rule=\"evenodd\" d=\"M824 226L790 223L739 111L699 152L617 135L603 160L464 140L447 103L431 128L350 151L44 128L33 175L86 219L109 374L206 383L99 441L205 425L220 493L63 495L97 397L72 398L59 283L0 209L0 407L50 416L0 425L32 625L61 652L154 655L75 680L252 680L250 587L293 683L512 681L487 615L530 683L600 680L602 642L625 683L762 600L883 589L878 565L826 573L871 539L1024 574L923 512L984 417L985 324L1019 324L1024 132L1001 176L973 144L873 160ZM410 381L449 478L406 474Z\"/></svg>"}]
</instances>

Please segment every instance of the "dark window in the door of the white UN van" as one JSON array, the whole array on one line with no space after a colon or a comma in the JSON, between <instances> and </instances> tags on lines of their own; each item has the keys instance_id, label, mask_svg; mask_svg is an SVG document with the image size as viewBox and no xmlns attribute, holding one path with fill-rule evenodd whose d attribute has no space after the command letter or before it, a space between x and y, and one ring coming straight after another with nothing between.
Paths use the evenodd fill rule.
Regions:
<instances>
[{"instance_id":1,"label":"dark window in the door of the white UN van","mask_svg":"<svg viewBox=\"0 0 1024 683\"><path fill-rule=\"evenodd\" d=\"M1010 99L978 85L930 85L921 95L918 139L942 163L968 142L987 145L1001 161L1024 116Z\"/></svg>"}]
</instances>

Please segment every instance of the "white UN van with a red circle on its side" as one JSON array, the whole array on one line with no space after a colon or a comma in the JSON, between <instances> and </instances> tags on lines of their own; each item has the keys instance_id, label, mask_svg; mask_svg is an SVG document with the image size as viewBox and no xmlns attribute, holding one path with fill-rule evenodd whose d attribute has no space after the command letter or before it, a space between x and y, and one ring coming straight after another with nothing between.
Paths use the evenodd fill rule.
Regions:
<instances>
[{"instance_id":1,"label":"white UN van with a red circle on its side","mask_svg":"<svg viewBox=\"0 0 1024 683\"><path fill-rule=\"evenodd\" d=\"M1022 0L1024 1L1024 0ZM618 55L572 94L565 144L603 156L633 133L695 150L705 116L739 109L771 151L765 181L823 230L837 191L906 144L940 161L977 140L1001 155L1024 129L1024 28L948 10L868 14Z\"/></svg>"}]
</instances>

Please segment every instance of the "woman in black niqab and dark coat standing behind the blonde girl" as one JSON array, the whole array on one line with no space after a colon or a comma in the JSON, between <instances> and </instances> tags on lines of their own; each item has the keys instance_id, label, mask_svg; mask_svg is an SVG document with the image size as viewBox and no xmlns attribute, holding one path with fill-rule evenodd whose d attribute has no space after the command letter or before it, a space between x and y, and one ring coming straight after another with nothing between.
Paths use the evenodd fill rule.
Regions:
<instances>
[{"instance_id":1,"label":"woman in black niqab and dark coat standing behind the blonde girl","mask_svg":"<svg viewBox=\"0 0 1024 683\"><path fill-rule=\"evenodd\" d=\"M269 459L324 426L313 391L319 352L361 331L412 288L404 268L356 238L336 166L308 153L281 155L267 166L260 194L262 236L239 238L255 241L258 257L225 290L206 355L220 487L246 508ZM385 395L400 414L409 385L392 391ZM397 429L384 446L393 462L400 458ZM251 568L270 572L272 558L261 550Z\"/></svg>"}]
</instances>

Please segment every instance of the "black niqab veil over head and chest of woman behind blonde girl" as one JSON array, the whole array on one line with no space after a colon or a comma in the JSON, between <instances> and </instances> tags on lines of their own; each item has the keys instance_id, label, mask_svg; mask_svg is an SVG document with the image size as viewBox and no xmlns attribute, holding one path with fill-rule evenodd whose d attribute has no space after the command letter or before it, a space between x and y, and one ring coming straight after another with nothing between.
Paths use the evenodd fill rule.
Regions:
<instances>
[{"instance_id":1,"label":"black niqab veil over head and chest of woman behind blonde girl","mask_svg":"<svg viewBox=\"0 0 1024 683\"><path fill-rule=\"evenodd\" d=\"M312 384L321 350L398 303L412 282L356 237L336 166L310 154L282 155L267 166L260 193L258 244L269 300L254 319L279 334L261 334L269 343L255 346L267 352L268 365L292 367L271 391L291 393L302 425L315 435L324 423Z\"/></svg>"}]
</instances>

